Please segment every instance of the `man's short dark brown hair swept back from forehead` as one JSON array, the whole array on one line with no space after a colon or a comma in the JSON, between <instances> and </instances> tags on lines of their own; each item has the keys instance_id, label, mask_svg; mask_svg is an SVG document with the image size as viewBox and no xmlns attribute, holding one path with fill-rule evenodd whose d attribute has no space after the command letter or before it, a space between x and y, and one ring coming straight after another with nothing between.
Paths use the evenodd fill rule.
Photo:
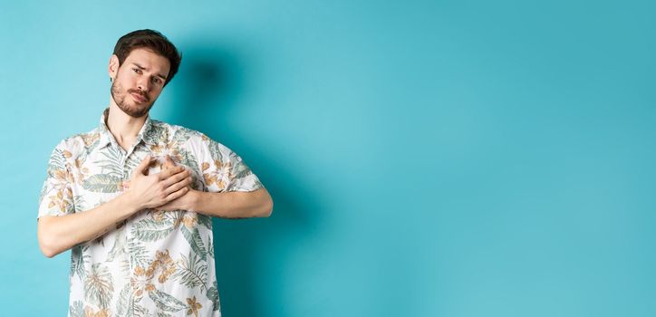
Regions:
<instances>
[{"instance_id":1,"label":"man's short dark brown hair swept back from forehead","mask_svg":"<svg viewBox=\"0 0 656 317\"><path fill-rule=\"evenodd\" d=\"M169 60L169 75L167 76L167 81L164 82L166 86L173 79L176 72L178 72L178 67L182 60L176 46L170 43L166 36L155 30L145 29L130 32L121 36L116 46L114 46L114 54L119 57L119 67L125 62L130 52L137 48L149 49L153 53L162 55Z\"/></svg>"}]
</instances>

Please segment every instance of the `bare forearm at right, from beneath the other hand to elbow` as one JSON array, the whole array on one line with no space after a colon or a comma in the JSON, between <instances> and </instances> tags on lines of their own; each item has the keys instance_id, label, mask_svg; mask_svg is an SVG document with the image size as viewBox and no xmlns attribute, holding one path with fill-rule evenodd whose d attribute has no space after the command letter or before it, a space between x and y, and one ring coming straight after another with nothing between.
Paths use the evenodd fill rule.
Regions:
<instances>
[{"instance_id":1,"label":"bare forearm at right, from beneath the other hand to elbow","mask_svg":"<svg viewBox=\"0 0 656 317\"><path fill-rule=\"evenodd\" d=\"M222 218L271 216L273 200L265 188L252 192L208 193L192 190L188 210Z\"/></svg>"}]
</instances>

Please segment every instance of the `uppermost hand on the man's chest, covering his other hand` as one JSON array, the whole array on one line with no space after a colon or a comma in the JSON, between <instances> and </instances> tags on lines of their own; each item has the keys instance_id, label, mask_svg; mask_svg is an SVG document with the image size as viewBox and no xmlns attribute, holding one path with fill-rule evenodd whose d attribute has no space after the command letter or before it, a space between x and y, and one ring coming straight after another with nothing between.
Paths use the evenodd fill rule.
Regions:
<instances>
[{"instance_id":1,"label":"uppermost hand on the man's chest, covering his other hand","mask_svg":"<svg viewBox=\"0 0 656 317\"><path fill-rule=\"evenodd\" d=\"M155 159L150 155L141 161L130 178L130 187L125 192L138 210L165 205L187 194L189 190L191 178L188 170L174 166L158 174L148 175L148 168L154 162Z\"/></svg>"}]
</instances>

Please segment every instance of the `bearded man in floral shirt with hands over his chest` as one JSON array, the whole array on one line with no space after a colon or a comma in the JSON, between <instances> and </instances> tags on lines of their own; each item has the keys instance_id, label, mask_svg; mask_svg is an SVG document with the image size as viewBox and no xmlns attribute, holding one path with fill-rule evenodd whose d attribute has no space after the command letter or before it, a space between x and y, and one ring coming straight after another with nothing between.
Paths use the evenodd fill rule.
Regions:
<instances>
[{"instance_id":1,"label":"bearded man in floral shirt with hands over his chest","mask_svg":"<svg viewBox=\"0 0 656 317\"><path fill-rule=\"evenodd\" d=\"M156 31L122 36L99 127L53 150L38 239L48 257L72 249L70 316L220 316L210 217L271 215L235 152L150 119L179 63Z\"/></svg>"}]
</instances>

